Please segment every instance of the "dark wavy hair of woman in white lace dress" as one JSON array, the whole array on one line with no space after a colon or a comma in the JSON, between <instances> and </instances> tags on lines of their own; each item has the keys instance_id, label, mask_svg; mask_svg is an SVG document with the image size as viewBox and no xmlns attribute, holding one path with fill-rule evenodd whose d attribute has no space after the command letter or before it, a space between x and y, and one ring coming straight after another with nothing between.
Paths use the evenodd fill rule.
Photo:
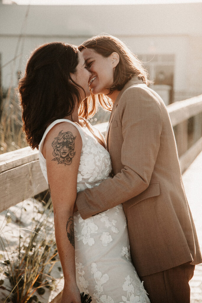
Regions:
<instances>
[{"instance_id":1,"label":"dark wavy hair of woman in white lace dress","mask_svg":"<svg viewBox=\"0 0 202 303\"><path fill-rule=\"evenodd\" d=\"M18 85L23 131L31 148L38 149L47 126L71 115L76 100L81 101L81 86L70 77L77 65L78 48L74 45L47 43L32 52ZM79 115L88 118L88 108Z\"/></svg>"}]
</instances>

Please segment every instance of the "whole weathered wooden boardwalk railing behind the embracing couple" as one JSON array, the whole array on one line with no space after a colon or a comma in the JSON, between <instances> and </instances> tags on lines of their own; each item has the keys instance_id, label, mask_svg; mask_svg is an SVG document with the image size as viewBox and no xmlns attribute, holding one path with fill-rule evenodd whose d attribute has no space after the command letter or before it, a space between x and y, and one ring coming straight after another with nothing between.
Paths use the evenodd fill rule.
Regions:
<instances>
[{"instance_id":1,"label":"whole weathered wooden boardwalk railing behind the embracing couple","mask_svg":"<svg viewBox=\"0 0 202 303\"><path fill-rule=\"evenodd\" d=\"M202 95L167 106L182 173L202 150ZM193 142L188 147L188 119L194 117ZM107 122L96 125L105 133ZM0 155L0 212L48 189L41 172L38 151L30 147ZM57 303L60 294L51 301Z\"/></svg>"}]
</instances>

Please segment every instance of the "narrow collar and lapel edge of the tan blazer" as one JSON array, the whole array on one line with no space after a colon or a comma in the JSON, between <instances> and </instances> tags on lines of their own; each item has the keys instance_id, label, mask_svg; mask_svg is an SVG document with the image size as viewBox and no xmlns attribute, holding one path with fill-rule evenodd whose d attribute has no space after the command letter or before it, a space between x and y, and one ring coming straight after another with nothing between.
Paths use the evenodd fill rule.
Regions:
<instances>
[{"instance_id":1,"label":"narrow collar and lapel edge of the tan blazer","mask_svg":"<svg viewBox=\"0 0 202 303\"><path fill-rule=\"evenodd\" d=\"M114 105L113 105L113 108L112 108L112 111L111 111L111 115L110 115L110 118L109 118L109 124L108 124L108 131L106 132L106 135L105 135L105 141L106 141L106 144L107 144L107 150L108 150L108 138L109 138L109 130L110 130L110 126L111 126L111 122L113 121L113 118L114 118L114 114L116 112L116 109L117 109L117 106L118 106L118 102L121 98L121 96L123 95L123 93L125 92L125 90L127 88L129 88L131 85L134 85L134 84L144 84L143 81L141 79L139 79L139 77L134 77L132 78L131 80L129 80L124 88L122 88L122 90L120 91L120 93L118 94L115 102L114 102Z\"/></svg>"}]
</instances>

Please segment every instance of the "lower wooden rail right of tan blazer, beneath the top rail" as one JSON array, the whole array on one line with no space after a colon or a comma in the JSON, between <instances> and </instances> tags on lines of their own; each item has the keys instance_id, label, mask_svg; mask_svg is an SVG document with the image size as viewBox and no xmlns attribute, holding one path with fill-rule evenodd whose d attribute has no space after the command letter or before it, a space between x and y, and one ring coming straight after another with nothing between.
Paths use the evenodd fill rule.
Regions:
<instances>
[{"instance_id":1,"label":"lower wooden rail right of tan blazer, beneath the top rail","mask_svg":"<svg viewBox=\"0 0 202 303\"><path fill-rule=\"evenodd\" d=\"M202 137L179 158L180 169L182 174L194 161L197 155L200 154L201 151L202 151Z\"/></svg>"}]
</instances>

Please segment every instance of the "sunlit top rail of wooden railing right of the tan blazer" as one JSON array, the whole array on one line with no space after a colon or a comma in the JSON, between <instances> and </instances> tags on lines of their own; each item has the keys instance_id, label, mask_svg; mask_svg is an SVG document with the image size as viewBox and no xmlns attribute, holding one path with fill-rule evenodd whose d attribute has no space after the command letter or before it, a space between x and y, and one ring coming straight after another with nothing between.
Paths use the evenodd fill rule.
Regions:
<instances>
[{"instance_id":1,"label":"sunlit top rail of wooden railing right of the tan blazer","mask_svg":"<svg viewBox=\"0 0 202 303\"><path fill-rule=\"evenodd\" d=\"M192 116L202 112L202 95L183 101L177 101L167 106L172 126L175 126Z\"/></svg>"}]
</instances>

